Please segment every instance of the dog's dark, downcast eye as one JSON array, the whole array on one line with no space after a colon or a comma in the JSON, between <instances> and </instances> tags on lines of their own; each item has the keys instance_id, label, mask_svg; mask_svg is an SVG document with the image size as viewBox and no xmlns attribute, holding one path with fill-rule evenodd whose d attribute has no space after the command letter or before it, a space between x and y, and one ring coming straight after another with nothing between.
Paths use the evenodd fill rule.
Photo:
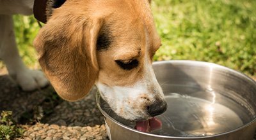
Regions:
<instances>
[{"instance_id":1,"label":"dog's dark, downcast eye","mask_svg":"<svg viewBox=\"0 0 256 140\"><path fill-rule=\"evenodd\" d=\"M115 60L116 64L120 66L122 69L125 70L131 70L134 67L137 67L139 65L138 60L132 59L132 60Z\"/></svg>"}]
</instances>

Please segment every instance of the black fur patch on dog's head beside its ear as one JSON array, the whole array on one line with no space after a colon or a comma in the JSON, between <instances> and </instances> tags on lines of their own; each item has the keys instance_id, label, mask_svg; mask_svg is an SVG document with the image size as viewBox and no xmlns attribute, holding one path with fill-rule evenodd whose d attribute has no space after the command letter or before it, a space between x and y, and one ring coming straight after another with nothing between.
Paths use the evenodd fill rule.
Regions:
<instances>
[{"instance_id":1,"label":"black fur patch on dog's head beside its ear","mask_svg":"<svg viewBox=\"0 0 256 140\"><path fill-rule=\"evenodd\" d=\"M112 43L111 32L108 27L102 27L97 39L97 50L107 50Z\"/></svg>"}]
</instances>

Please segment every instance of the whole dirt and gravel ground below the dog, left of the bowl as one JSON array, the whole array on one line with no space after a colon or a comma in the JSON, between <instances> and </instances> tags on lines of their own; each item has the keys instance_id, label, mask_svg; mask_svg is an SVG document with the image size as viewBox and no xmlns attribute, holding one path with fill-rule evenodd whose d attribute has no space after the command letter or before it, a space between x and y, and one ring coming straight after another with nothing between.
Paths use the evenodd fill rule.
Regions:
<instances>
[{"instance_id":1,"label":"whole dirt and gravel ground below the dog, left of the bowl","mask_svg":"<svg viewBox=\"0 0 256 140\"><path fill-rule=\"evenodd\" d=\"M19 139L108 139L104 118L95 102L97 89L77 102L63 101L49 86L22 92L7 76L0 76L0 111L13 111L26 129ZM44 115L43 115L44 114Z\"/></svg>"}]
</instances>

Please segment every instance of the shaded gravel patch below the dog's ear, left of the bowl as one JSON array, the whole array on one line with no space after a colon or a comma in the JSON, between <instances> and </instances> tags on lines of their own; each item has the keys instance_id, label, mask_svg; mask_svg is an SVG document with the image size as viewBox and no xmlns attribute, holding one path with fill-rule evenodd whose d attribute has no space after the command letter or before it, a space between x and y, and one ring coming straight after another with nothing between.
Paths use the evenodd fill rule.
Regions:
<instances>
[{"instance_id":1,"label":"shaded gravel patch below the dog's ear, left of the bowl","mask_svg":"<svg viewBox=\"0 0 256 140\"><path fill-rule=\"evenodd\" d=\"M93 87L90 94L81 101L62 102L54 108L51 115L44 119L44 122L80 127L104 124L104 118L95 102L96 92L97 88Z\"/></svg>"}]
</instances>

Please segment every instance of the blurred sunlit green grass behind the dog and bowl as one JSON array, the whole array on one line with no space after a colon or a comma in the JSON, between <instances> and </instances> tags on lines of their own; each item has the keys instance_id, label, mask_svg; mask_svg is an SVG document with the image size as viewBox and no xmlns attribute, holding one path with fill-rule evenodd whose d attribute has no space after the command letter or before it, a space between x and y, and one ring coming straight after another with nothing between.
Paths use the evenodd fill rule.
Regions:
<instances>
[{"instance_id":1,"label":"blurred sunlit green grass behind the dog and bowl","mask_svg":"<svg viewBox=\"0 0 256 140\"><path fill-rule=\"evenodd\" d=\"M154 0L152 11L161 48L154 60L202 60L256 75L256 1ZM38 68L35 19L15 15L20 55Z\"/></svg>"}]
</instances>

